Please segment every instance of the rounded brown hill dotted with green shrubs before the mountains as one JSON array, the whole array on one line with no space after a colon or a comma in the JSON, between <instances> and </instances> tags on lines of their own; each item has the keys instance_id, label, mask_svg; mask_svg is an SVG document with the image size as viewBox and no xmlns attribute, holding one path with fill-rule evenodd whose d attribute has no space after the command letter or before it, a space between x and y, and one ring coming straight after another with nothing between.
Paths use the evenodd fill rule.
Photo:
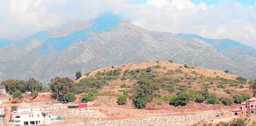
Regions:
<instances>
[{"instance_id":1,"label":"rounded brown hill dotted with green shrubs before the mountains","mask_svg":"<svg viewBox=\"0 0 256 126\"><path fill-rule=\"evenodd\" d=\"M147 71L150 69L151 71ZM128 92L127 97L131 98L134 87L138 85L138 79L147 78L154 84L160 86L160 90L155 92L152 102L147 102L144 109L149 110L170 110L175 112L201 111L201 110L232 110L240 104L224 106L221 98L232 98L234 95L252 95L248 87L252 83L250 80L239 80L239 76L232 73L225 73L214 69L188 66L184 64L170 63L167 61L156 61L146 63L133 63L122 66L99 68L83 75L75 80L78 92L87 92L93 80L102 81L102 87L95 95L96 106L134 108L132 99L126 105L118 105L117 98L124 92ZM89 86L89 87L88 87ZM180 92L187 94L207 91L210 95L215 95L216 104L195 102L191 98L185 106L169 105L172 96ZM81 100L81 99L80 99ZM183 109L181 109L183 108Z\"/></svg>"}]
</instances>

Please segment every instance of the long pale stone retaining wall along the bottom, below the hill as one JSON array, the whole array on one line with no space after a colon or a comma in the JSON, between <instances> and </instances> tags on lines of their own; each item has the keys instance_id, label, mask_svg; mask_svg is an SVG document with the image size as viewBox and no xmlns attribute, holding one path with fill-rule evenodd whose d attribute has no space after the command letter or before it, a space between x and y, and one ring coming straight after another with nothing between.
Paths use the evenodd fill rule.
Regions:
<instances>
[{"instance_id":1,"label":"long pale stone retaining wall along the bottom, below the hill","mask_svg":"<svg viewBox=\"0 0 256 126\"><path fill-rule=\"evenodd\" d=\"M95 122L79 122L76 126L170 126L174 124L185 125L193 124L195 122L211 121L217 115L230 116L230 112L218 112L207 114L191 114L191 115L174 115L154 118L134 118L123 120L105 120ZM56 126L72 126L69 125L56 125Z\"/></svg>"}]
</instances>

